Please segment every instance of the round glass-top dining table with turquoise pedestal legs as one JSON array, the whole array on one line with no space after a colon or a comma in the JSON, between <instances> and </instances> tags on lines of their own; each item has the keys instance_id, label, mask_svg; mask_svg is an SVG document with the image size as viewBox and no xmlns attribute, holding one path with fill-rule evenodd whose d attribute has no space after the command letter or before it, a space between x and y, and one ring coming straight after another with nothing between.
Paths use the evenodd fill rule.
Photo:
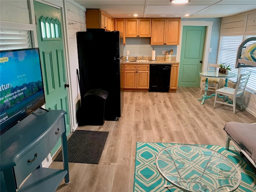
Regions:
<instances>
[{"instance_id":1,"label":"round glass-top dining table with turquoise pedestal legs","mask_svg":"<svg viewBox=\"0 0 256 192\"><path fill-rule=\"evenodd\" d=\"M218 70L208 70L208 71L200 71L198 72L199 76L206 78L205 79L205 88L204 88L204 94L202 95L202 98L198 99L201 102L201 105L204 104L204 101L206 99L212 98L213 96L215 96L215 93L207 96L207 91L208 91L208 78L225 78L226 79L226 84L225 87L228 86L228 78L230 77L235 77L237 76L236 73L234 72L228 72L228 74L222 74L219 73ZM222 98L221 96L219 96L220 98Z\"/></svg>"}]
</instances>

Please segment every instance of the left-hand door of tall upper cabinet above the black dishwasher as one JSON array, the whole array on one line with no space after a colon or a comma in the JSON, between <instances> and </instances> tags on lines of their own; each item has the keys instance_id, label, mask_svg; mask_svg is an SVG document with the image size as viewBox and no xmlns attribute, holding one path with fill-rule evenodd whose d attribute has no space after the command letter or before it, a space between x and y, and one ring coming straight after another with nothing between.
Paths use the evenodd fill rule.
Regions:
<instances>
[{"instance_id":1,"label":"left-hand door of tall upper cabinet above the black dishwasher","mask_svg":"<svg viewBox=\"0 0 256 192\"><path fill-rule=\"evenodd\" d=\"M166 19L152 19L152 45L164 45L166 33Z\"/></svg>"}]
</instances>

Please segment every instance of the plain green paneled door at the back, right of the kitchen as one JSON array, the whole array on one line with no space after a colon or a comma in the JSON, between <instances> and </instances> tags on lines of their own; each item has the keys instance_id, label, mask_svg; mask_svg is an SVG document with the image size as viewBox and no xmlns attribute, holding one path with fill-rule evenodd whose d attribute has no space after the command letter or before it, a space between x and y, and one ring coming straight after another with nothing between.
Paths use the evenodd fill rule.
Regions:
<instances>
[{"instance_id":1,"label":"plain green paneled door at the back, right of the kitchen","mask_svg":"<svg viewBox=\"0 0 256 192\"><path fill-rule=\"evenodd\" d=\"M179 87L200 87L206 26L183 26Z\"/></svg>"}]
</instances>

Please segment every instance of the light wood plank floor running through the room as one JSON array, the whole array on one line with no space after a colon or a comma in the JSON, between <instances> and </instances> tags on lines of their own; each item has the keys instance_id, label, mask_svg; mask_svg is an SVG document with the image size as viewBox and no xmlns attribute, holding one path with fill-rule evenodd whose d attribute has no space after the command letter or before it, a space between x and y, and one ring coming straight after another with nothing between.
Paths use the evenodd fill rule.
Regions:
<instances>
[{"instance_id":1,"label":"light wood plank floor running through the room","mask_svg":"<svg viewBox=\"0 0 256 192\"><path fill-rule=\"evenodd\" d=\"M124 92L119 121L78 130L109 131L99 164L69 163L70 184L58 192L132 192L136 142L168 142L225 146L226 122L256 122L256 118L232 107L213 108L214 98L201 105L200 88L178 88L176 93ZM232 142L230 142L233 145ZM50 168L63 168L53 162Z\"/></svg>"}]
</instances>

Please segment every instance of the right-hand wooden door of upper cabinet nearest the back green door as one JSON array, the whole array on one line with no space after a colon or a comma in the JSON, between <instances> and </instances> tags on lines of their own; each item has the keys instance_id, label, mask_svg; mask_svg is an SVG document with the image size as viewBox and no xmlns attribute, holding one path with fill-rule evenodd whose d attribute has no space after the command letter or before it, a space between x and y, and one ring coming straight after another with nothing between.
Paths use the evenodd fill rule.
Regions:
<instances>
[{"instance_id":1,"label":"right-hand wooden door of upper cabinet nearest the back green door","mask_svg":"<svg viewBox=\"0 0 256 192\"><path fill-rule=\"evenodd\" d=\"M166 45L180 43L180 19L166 19Z\"/></svg>"}]
</instances>

